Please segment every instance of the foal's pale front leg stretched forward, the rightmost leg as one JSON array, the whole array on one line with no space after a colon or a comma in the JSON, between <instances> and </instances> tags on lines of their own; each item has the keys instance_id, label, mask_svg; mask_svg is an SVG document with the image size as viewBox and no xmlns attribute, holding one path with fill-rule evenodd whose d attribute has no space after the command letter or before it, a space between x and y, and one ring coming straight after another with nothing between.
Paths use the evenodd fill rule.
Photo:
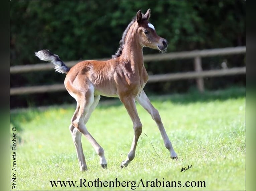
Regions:
<instances>
[{"instance_id":1,"label":"foal's pale front leg stretched forward, the rightmost leg","mask_svg":"<svg viewBox=\"0 0 256 191\"><path fill-rule=\"evenodd\" d=\"M158 129L160 130L160 133L163 137L164 145L170 151L171 158L177 159L178 158L177 154L174 151L174 149L171 145L171 141L169 140L169 138L165 132L165 129L163 127L163 123L162 123L162 120L161 120L158 110L156 110L154 108L154 106L150 103L147 95L145 94L145 92L143 90L141 91L140 95L136 98L136 100L139 102L139 104L141 104L141 106L144 109L146 109L151 114L152 118L156 122Z\"/></svg>"}]
</instances>

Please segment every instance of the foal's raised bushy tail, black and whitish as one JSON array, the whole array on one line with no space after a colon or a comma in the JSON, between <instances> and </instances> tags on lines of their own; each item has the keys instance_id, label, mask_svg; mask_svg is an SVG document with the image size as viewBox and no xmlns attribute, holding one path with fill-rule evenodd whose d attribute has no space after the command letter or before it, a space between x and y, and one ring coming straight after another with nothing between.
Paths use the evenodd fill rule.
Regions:
<instances>
[{"instance_id":1,"label":"foal's raised bushy tail, black and whitish","mask_svg":"<svg viewBox=\"0 0 256 191\"><path fill-rule=\"evenodd\" d=\"M40 60L51 62L54 65L55 71L62 74L67 74L70 70L58 57L56 54L52 54L48 50L40 50L35 52L35 56L37 56Z\"/></svg>"}]
</instances>

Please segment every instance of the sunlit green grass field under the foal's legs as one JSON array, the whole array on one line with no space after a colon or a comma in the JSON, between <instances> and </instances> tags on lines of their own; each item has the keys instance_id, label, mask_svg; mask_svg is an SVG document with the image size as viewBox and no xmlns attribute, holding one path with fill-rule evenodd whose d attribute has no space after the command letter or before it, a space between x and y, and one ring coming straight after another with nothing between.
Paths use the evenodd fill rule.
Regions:
<instances>
[{"instance_id":1,"label":"sunlit green grass field under the foal's legs","mask_svg":"<svg viewBox=\"0 0 256 191\"><path fill-rule=\"evenodd\" d=\"M17 128L10 132L11 140L15 133L18 142L17 172L12 170L13 158L10 160L11 184L16 173L15 190L245 190L245 88L149 98L159 110L177 161L170 158L151 116L138 105L143 128L136 157L127 168L119 167L130 149L133 128L124 106L116 99L100 103L87 123L89 132L105 150L108 169L100 167L98 155L82 137L88 171L80 172L68 128L75 104L27 109L10 115L11 129ZM181 172L182 167L190 165ZM137 182L133 187L132 182L129 187L79 187L80 179L86 179L87 185L97 178ZM162 187L156 178L165 181L164 186L167 181L176 181L176 187ZM52 187L50 181L58 180L77 183L74 187L61 187L59 183ZM143 187L141 180L144 186L150 181L149 187ZM195 187L184 187L186 181L195 181ZM205 187L200 187L204 183ZM160 187L150 187L154 184Z\"/></svg>"}]
</instances>

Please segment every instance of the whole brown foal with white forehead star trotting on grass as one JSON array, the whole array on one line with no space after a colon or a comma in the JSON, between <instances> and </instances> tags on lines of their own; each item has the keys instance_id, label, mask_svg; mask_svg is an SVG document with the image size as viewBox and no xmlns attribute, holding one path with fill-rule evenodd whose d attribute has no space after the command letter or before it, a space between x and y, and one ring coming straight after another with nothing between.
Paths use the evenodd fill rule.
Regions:
<instances>
[{"instance_id":1,"label":"whole brown foal with white forehead star trotting on grass","mask_svg":"<svg viewBox=\"0 0 256 191\"><path fill-rule=\"evenodd\" d=\"M56 72L67 74L64 81L65 87L77 101L77 108L71 119L69 129L76 147L81 171L87 170L81 143L82 134L95 148L100 157L101 166L107 167L103 148L88 132L85 125L97 106L100 95L119 97L133 122L134 137L131 149L127 158L121 163L121 167L126 167L135 157L136 145L142 132L142 124L137 113L135 100L151 114L171 158L177 159L177 154L165 132L161 117L143 91L148 80L148 74L143 63L143 47L164 52L168 46L167 40L159 37L154 26L148 22L149 17L150 9L146 14L142 14L141 10L137 12L136 17L125 29L120 47L111 60L87 60L68 68L57 55L48 50L35 53L40 60L51 62Z\"/></svg>"}]
</instances>

